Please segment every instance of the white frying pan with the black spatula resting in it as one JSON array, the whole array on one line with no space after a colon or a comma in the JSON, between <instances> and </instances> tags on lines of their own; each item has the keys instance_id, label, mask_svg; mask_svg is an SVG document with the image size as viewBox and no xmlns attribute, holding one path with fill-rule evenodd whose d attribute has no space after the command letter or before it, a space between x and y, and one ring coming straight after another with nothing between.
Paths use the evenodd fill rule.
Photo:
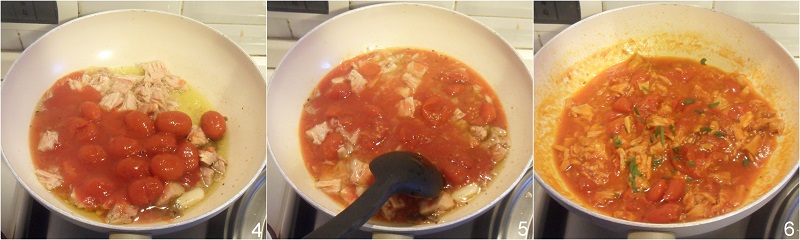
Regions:
<instances>
[{"instance_id":1,"label":"white frying pan with the black spatula resting in it","mask_svg":"<svg viewBox=\"0 0 800 240\"><path fill-rule=\"evenodd\" d=\"M528 31L528 30L525 30ZM369 221L369 231L424 234L467 221L503 198L531 164L532 81L516 52L496 33L463 14L420 4L364 7L330 19L289 50L278 65L267 96L270 154L291 186L327 214L344 209L314 187L300 150L300 113L317 83L343 60L386 47L433 49L453 56L491 85L508 117L511 149L498 175L478 197L435 224Z\"/></svg>"}]
</instances>

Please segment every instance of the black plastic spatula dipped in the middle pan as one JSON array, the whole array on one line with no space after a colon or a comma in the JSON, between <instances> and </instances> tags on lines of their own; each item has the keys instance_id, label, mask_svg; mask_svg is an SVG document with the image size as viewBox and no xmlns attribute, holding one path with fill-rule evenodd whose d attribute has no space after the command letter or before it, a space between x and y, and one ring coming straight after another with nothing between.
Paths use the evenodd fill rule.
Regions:
<instances>
[{"instance_id":1,"label":"black plastic spatula dipped in the middle pan","mask_svg":"<svg viewBox=\"0 0 800 240\"><path fill-rule=\"evenodd\" d=\"M339 215L305 238L344 238L364 225L396 193L432 198L444 186L442 173L419 154L389 152L369 164L375 183Z\"/></svg>"}]
</instances>

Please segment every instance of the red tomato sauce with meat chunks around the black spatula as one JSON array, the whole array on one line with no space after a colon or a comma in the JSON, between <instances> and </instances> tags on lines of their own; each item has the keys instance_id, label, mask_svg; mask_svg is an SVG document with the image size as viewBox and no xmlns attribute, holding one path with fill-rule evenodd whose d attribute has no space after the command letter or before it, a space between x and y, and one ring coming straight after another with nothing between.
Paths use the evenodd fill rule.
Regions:
<instances>
[{"instance_id":1,"label":"red tomato sauce with meat chunks around the black spatula","mask_svg":"<svg viewBox=\"0 0 800 240\"><path fill-rule=\"evenodd\" d=\"M420 69L424 74L419 74ZM353 71L365 78L363 90L355 90L360 86L348 79ZM416 87L415 78L404 76L409 73L418 76ZM408 109L402 104L409 97L414 110L404 112ZM352 193L353 188L363 190L374 179L366 174L366 179L353 181L347 177L352 171L349 163L340 162L368 165L390 151L425 156L444 174L446 191L472 183L483 186L501 158L493 156L497 153L491 145L476 140L470 128L507 129L499 99L478 73L456 59L420 49L379 50L342 62L320 81L304 108L300 135L306 166L317 181L343 178L348 182L341 191L328 192L345 205L360 195ZM321 144L315 144L307 130L321 123L328 123L331 130ZM368 168L360 163L354 164ZM377 215L400 222L426 217L418 209L422 199L402 196L400 201L405 207L390 214L397 215L394 219Z\"/></svg>"}]
</instances>

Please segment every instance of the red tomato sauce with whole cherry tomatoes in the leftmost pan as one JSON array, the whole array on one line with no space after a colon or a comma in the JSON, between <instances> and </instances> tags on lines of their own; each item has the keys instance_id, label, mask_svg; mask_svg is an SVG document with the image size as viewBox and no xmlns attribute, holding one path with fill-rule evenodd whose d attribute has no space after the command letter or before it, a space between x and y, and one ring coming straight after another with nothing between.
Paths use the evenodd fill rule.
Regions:
<instances>
[{"instance_id":1,"label":"red tomato sauce with whole cherry tomatoes in the leftmost pan","mask_svg":"<svg viewBox=\"0 0 800 240\"><path fill-rule=\"evenodd\" d=\"M139 209L134 222L179 216L154 202L170 182L186 189L200 183L197 148L170 127L156 127L143 112L100 108L101 94L93 87L71 89L68 80L81 79L83 73L59 79L42 98L30 126L35 167L63 178L51 192L101 219L121 202ZM56 132L58 143L54 149L37 150L46 131Z\"/></svg>"}]
</instances>

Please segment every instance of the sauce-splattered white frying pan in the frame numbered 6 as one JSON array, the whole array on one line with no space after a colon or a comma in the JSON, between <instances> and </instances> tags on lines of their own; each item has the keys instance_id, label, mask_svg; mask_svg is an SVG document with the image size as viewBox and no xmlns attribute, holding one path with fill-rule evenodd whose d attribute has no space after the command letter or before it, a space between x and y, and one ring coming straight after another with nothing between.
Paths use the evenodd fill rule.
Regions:
<instances>
[{"instance_id":1,"label":"sauce-splattered white frying pan in the frame numbered 6","mask_svg":"<svg viewBox=\"0 0 800 240\"><path fill-rule=\"evenodd\" d=\"M553 161L564 99L602 70L634 52L708 59L725 71L745 74L778 111L786 131L779 138L745 204L710 219L673 224L639 223L590 210L561 180ZM797 54L797 53L794 53ZM565 74L571 78L565 78ZM712 231L751 214L791 178L798 164L798 67L775 40L723 13L682 5L643 5L604 12L561 32L534 57L534 170L547 192L569 208L611 230L669 232L678 237ZM663 236L662 236L663 237Z\"/></svg>"}]
</instances>

